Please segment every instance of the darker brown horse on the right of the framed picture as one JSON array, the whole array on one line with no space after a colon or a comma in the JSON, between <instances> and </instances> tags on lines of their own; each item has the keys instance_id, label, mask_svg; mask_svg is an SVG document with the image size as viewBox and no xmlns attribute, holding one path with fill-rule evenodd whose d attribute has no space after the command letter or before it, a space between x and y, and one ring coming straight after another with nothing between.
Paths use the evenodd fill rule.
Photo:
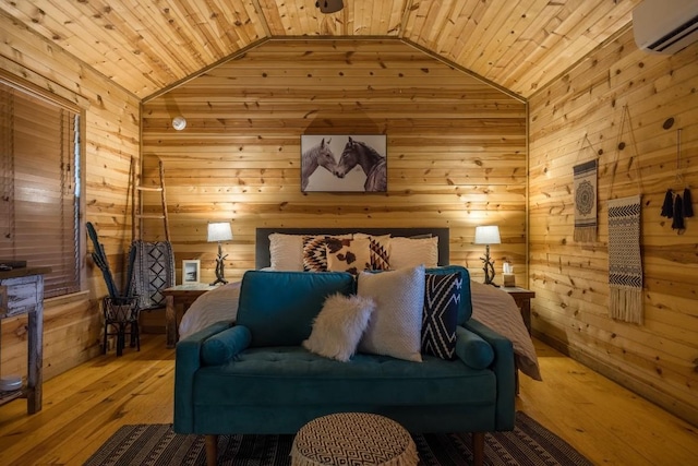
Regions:
<instances>
[{"instance_id":1,"label":"darker brown horse on the right of the framed picture","mask_svg":"<svg viewBox=\"0 0 698 466\"><path fill-rule=\"evenodd\" d=\"M366 143L354 141L350 136L335 168L335 176L344 178L357 165L361 166L366 176L366 181L363 183L364 191L387 191L388 180L385 157Z\"/></svg>"}]
</instances>

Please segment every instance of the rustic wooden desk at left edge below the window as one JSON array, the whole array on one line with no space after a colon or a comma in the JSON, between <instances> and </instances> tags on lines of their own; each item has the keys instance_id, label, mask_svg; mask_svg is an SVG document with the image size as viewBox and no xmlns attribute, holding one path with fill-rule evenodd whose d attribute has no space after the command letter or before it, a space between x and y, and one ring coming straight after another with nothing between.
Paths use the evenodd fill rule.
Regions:
<instances>
[{"instance_id":1,"label":"rustic wooden desk at left edge below the window","mask_svg":"<svg viewBox=\"0 0 698 466\"><path fill-rule=\"evenodd\" d=\"M44 382L44 274L50 267L24 267L0 272L0 325L2 320L27 314L26 386L0 392L0 405L26 398L27 413L41 410ZM1 350L1 348L0 348Z\"/></svg>"}]
</instances>

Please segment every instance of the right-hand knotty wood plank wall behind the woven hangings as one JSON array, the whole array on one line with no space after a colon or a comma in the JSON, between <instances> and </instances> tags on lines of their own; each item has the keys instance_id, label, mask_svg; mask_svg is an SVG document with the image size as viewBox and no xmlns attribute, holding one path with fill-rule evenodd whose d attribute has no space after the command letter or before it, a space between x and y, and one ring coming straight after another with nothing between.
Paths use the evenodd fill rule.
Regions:
<instances>
[{"instance_id":1,"label":"right-hand knotty wood plank wall behind the woven hangings","mask_svg":"<svg viewBox=\"0 0 698 466\"><path fill-rule=\"evenodd\" d=\"M627 31L529 101L535 334L694 425L698 217L677 231L660 213L666 190L683 194L685 187L693 188L698 211L697 75L698 45L670 57L648 55ZM619 135L626 105L630 124ZM592 150L581 150L585 134ZM595 241L579 243L573 239L573 166L593 157L600 226ZM606 201L640 190L645 322L635 325L607 315Z\"/></svg>"}]
</instances>

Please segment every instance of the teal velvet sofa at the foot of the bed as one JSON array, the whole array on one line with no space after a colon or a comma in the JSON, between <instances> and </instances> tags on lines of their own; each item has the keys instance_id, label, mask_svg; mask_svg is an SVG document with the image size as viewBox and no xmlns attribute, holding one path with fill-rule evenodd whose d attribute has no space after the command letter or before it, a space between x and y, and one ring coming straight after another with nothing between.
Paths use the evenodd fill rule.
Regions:
<instances>
[{"instance_id":1,"label":"teal velvet sofa at the foot of the bed","mask_svg":"<svg viewBox=\"0 0 698 466\"><path fill-rule=\"evenodd\" d=\"M301 343L332 294L356 292L348 273L248 272L234 324L220 322L177 345L174 423L178 433L206 435L208 464L218 434L296 433L320 416L375 413L410 432L472 432L476 463L484 432L512 430L515 417L512 343L471 320L466 268L457 357L423 362L357 354L340 362Z\"/></svg>"}]
</instances>

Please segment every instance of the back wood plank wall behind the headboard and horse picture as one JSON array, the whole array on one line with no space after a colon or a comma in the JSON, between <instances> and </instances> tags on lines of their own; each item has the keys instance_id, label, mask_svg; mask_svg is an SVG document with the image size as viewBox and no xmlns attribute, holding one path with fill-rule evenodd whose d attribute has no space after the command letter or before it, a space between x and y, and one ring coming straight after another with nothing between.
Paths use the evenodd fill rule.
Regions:
<instances>
[{"instance_id":1,"label":"back wood plank wall behind the headboard and horse picture","mask_svg":"<svg viewBox=\"0 0 698 466\"><path fill-rule=\"evenodd\" d=\"M387 134L386 194L301 193L301 134L375 133ZM208 220L232 222L232 279L254 268L256 227L423 225L449 227L452 263L481 280L482 224L500 225L497 270L506 258L526 276L526 105L399 40L266 41L144 103L146 183L158 157L178 282L185 259L214 279ZM144 237L161 239L161 223Z\"/></svg>"}]
</instances>

